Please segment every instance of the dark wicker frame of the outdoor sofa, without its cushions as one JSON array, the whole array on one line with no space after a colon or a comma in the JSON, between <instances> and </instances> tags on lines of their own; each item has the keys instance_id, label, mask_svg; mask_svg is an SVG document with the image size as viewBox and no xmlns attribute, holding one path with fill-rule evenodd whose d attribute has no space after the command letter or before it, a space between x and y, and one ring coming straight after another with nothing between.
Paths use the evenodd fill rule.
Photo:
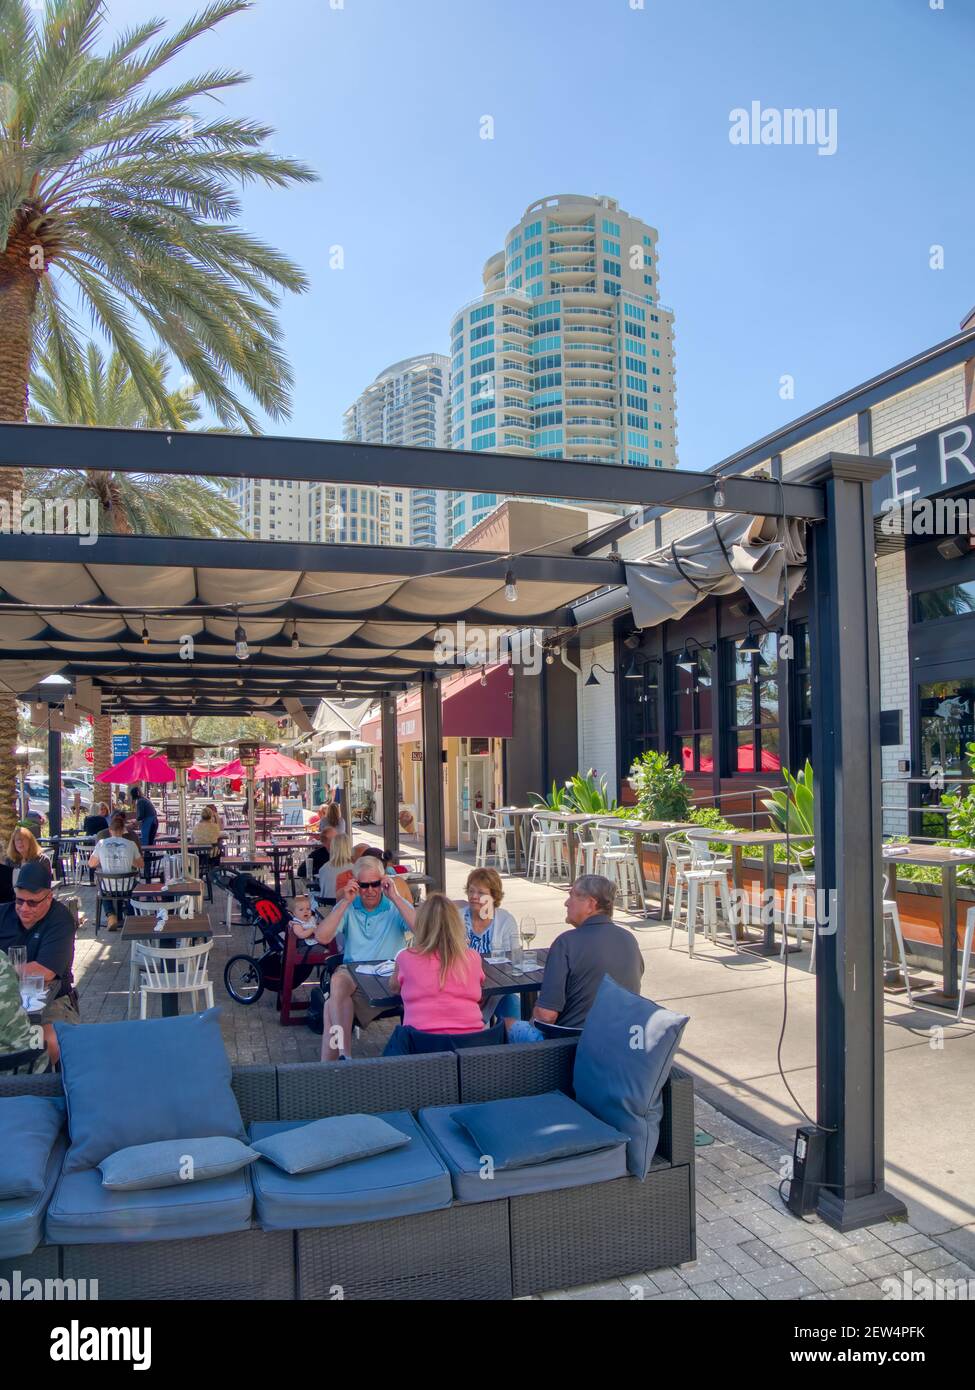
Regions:
<instances>
[{"instance_id":1,"label":"dark wicker frame of the outdoor sofa, without its cushions","mask_svg":"<svg viewBox=\"0 0 975 1390\"><path fill-rule=\"evenodd\" d=\"M572 1094L576 1040L342 1065L239 1066L246 1125ZM0 1095L57 1095L58 1076L0 1076ZM673 1068L645 1180L615 1177L527 1195L317 1229L195 1238L40 1244L0 1277L97 1279L102 1300L512 1298L694 1258L694 1097Z\"/></svg>"}]
</instances>

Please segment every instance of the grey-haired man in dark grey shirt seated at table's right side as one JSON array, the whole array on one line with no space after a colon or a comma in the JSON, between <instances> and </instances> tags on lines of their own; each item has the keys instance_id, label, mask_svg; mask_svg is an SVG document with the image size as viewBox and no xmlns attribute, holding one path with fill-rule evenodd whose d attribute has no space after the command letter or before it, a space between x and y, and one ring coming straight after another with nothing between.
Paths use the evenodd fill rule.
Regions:
<instances>
[{"instance_id":1,"label":"grey-haired man in dark grey shirt seated at table's right side","mask_svg":"<svg viewBox=\"0 0 975 1390\"><path fill-rule=\"evenodd\" d=\"M531 1017L581 1029L593 1008L604 974L640 994L643 956L631 931L613 922L616 887L598 873L576 878L566 899L565 917L573 927L552 942L538 1002ZM520 1019L508 1023L509 1042L538 1042L542 1034Z\"/></svg>"}]
</instances>

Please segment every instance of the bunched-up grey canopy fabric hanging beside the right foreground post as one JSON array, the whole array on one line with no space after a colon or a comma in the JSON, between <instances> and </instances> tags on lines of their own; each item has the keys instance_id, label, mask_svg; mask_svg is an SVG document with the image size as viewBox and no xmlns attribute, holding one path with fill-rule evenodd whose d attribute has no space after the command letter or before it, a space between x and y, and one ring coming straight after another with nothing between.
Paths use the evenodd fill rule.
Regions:
<instances>
[{"instance_id":1,"label":"bunched-up grey canopy fabric hanging beside the right foreground post","mask_svg":"<svg viewBox=\"0 0 975 1390\"><path fill-rule=\"evenodd\" d=\"M683 617L711 594L744 589L768 623L805 578L804 523L777 517L719 517L626 566L626 587L637 627L656 627Z\"/></svg>"}]
</instances>

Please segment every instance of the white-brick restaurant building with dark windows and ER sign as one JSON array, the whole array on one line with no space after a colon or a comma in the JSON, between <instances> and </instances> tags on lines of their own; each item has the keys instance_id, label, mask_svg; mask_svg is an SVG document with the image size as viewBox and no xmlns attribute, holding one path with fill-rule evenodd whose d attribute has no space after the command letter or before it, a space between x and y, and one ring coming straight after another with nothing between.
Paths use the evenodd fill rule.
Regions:
<instances>
[{"instance_id":1,"label":"white-brick restaurant building with dark windows and ER sign","mask_svg":"<svg viewBox=\"0 0 975 1390\"><path fill-rule=\"evenodd\" d=\"M719 496L723 477L789 478L829 452L890 459L889 474L875 485L885 830L937 834L943 819L918 813L908 823L905 808L930 799L928 778L939 767L946 777L968 774L975 541L967 509L917 503L972 498L975 518L975 318L709 473ZM910 517L904 503L915 503ZM943 532L956 513L961 534L932 534ZM704 527L700 514L663 509L644 512L643 524L634 520L611 524L577 550L616 549L680 575L682 555L693 555L708 537L712 548L723 545L711 514ZM725 815L761 813L759 790L809 755L811 669L829 660L829 653L811 651L801 564L797 571L787 631L782 610L762 617L737 584L698 596L683 616L654 626L637 624L625 591L576 605L579 637L569 655L579 667L579 766L605 774L626 802L633 799L626 778L634 758L661 749L684 767L695 794ZM791 644L783 646L786 637ZM750 651L741 649L744 638Z\"/></svg>"}]
</instances>

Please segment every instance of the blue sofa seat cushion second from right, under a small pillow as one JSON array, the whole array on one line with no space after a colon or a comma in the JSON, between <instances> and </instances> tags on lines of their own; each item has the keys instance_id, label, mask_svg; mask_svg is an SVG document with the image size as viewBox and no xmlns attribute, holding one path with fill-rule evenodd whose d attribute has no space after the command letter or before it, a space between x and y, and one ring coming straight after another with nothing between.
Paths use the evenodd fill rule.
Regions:
<instances>
[{"instance_id":1,"label":"blue sofa seat cushion second from right, under a small pillow","mask_svg":"<svg viewBox=\"0 0 975 1390\"><path fill-rule=\"evenodd\" d=\"M255 1163L250 1179L260 1226L264 1230L353 1226L449 1207L446 1168L409 1111L391 1111L380 1119L406 1134L410 1143L317 1173L282 1173L267 1159ZM259 1144L299 1123L256 1120L250 1126L250 1140Z\"/></svg>"}]
</instances>

